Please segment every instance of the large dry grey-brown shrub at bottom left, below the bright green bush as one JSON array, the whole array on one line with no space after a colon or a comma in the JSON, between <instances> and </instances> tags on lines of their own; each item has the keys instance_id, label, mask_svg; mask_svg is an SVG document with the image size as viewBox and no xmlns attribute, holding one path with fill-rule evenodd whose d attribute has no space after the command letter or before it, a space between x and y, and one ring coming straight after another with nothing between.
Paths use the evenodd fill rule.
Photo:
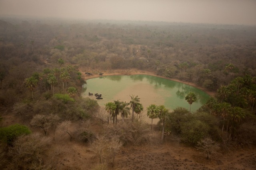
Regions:
<instances>
[{"instance_id":1,"label":"large dry grey-brown shrub at bottom left, below the bright green bush","mask_svg":"<svg viewBox=\"0 0 256 170\"><path fill-rule=\"evenodd\" d=\"M34 133L19 137L10 148L12 164L10 169L49 169L50 164L44 164L46 151L50 147L50 138Z\"/></svg>"}]
</instances>

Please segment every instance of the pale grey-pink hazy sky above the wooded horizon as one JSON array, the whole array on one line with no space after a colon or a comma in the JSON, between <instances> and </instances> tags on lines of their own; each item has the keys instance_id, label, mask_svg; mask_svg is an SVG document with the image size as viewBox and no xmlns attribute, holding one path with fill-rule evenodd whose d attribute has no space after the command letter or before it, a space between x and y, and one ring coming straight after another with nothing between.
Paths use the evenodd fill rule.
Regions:
<instances>
[{"instance_id":1,"label":"pale grey-pink hazy sky above the wooded horizon","mask_svg":"<svg viewBox=\"0 0 256 170\"><path fill-rule=\"evenodd\" d=\"M256 0L0 0L0 16L256 25Z\"/></svg>"}]
</instances>

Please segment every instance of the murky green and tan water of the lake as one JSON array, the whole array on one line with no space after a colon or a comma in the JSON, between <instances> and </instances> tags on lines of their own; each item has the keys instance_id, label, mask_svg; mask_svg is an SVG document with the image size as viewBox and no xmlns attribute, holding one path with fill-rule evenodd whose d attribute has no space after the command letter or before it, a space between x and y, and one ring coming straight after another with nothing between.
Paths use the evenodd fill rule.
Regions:
<instances>
[{"instance_id":1,"label":"murky green and tan water of the lake","mask_svg":"<svg viewBox=\"0 0 256 170\"><path fill-rule=\"evenodd\" d=\"M194 92L197 101L191 105L191 112L193 112L205 104L209 97L204 91L193 86L142 74L102 76L88 79L86 82L87 84L83 85L84 92L82 96L97 100L94 94L102 94L103 99L97 100L100 106L104 106L107 102L113 102L114 100L130 102L130 96L132 96L132 94L138 96L140 103L144 107L142 117L144 117L144 120L148 123L151 123L151 119L146 117L146 107L150 104L164 105L170 111L176 107L184 107L189 110L190 105L185 100L185 96L189 92ZM89 96L88 92L93 93L93 96ZM155 119L154 123L157 121L158 120Z\"/></svg>"}]
</instances>

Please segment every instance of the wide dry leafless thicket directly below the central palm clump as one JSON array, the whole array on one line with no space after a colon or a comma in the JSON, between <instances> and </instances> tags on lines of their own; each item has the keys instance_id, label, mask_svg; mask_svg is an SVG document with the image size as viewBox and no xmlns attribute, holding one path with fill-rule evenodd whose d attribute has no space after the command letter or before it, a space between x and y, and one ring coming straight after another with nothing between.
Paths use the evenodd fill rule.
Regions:
<instances>
[{"instance_id":1,"label":"wide dry leafless thicket directly below the central palm clump","mask_svg":"<svg viewBox=\"0 0 256 170\"><path fill-rule=\"evenodd\" d=\"M131 143L132 145L140 145L149 143L152 139L150 126L144 122L124 122L116 125L106 126L106 132L109 136L119 136L122 143Z\"/></svg>"}]
</instances>

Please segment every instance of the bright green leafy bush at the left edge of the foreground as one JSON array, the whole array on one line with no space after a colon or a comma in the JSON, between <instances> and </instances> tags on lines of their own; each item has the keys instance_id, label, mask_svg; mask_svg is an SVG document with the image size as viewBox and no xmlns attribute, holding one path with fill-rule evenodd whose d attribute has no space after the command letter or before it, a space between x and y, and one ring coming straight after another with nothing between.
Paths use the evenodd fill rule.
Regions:
<instances>
[{"instance_id":1,"label":"bright green leafy bush at the left edge of the foreground","mask_svg":"<svg viewBox=\"0 0 256 170\"><path fill-rule=\"evenodd\" d=\"M12 145L15 139L21 135L30 134L30 129L25 125L15 124L0 129L0 139Z\"/></svg>"}]
</instances>

